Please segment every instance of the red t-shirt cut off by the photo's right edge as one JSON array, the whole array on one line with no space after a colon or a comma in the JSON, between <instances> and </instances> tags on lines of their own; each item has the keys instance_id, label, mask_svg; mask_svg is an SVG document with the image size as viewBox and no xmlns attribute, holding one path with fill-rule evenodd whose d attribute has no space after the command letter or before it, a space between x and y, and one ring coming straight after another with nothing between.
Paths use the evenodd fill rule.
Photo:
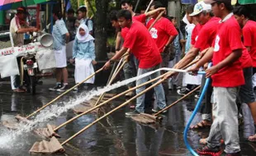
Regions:
<instances>
[{"instance_id":1,"label":"red t-shirt cut off by the photo's right edge","mask_svg":"<svg viewBox=\"0 0 256 156\"><path fill-rule=\"evenodd\" d=\"M244 46L251 47L253 67L256 67L256 22L247 21L243 28Z\"/></svg>"}]
</instances>

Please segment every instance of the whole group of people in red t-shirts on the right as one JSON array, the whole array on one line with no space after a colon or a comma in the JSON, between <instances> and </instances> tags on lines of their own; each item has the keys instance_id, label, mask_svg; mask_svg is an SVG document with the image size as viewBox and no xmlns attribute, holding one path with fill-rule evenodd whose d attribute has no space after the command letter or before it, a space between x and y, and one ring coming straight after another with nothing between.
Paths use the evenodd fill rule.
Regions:
<instances>
[{"instance_id":1,"label":"whole group of people in red t-shirts on the right","mask_svg":"<svg viewBox=\"0 0 256 156\"><path fill-rule=\"evenodd\" d=\"M161 67L170 67L170 64L174 65L172 68L182 69L199 58L188 71L192 71L193 75L197 75L197 71L206 71L206 76L200 78L200 84L193 84L193 81L186 84L186 76L181 76L181 73L170 71L166 74L164 71L156 71L137 80L136 85L166 74L164 78L183 81L187 86L185 91L189 91L189 86L203 86L206 78L210 78L206 102L201 108L202 121L192 126L192 129L208 126L211 131L206 139L200 140L205 145L198 148L197 153L220 154L220 145L225 144L226 155L240 155L239 103L248 104L256 124L252 83L256 72L256 22L249 20L249 10L244 6L234 8L230 0L204 0L195 6L189 6L183 18L183 21L187 21L185 40L183 34L180 35L180 30L175 28L175 18L169 20L161 13L165 8L160 2L153 2L149 11L141 15L132 11L129 0L122 1L121 8L121 11L112 11L110 15L112 26L116 28L116 54L104 68L110 67L111 63L119 60L125 53L130 53L124 69L126 78L130 78L132 74L135 76L135 73L140 76ZM188 45L182 59L183 53L175 50L177 43L183 45L183 49L185 44L186 48ZM208 67L209 62L212 62L211 67ZM172 80L168 82L170 81ZM153 112L159 112L168 105L166 87L168 85L164 83L154 87L157 107L152 109ZM145 87L136 89L136 94L144 89ZM129 93L127 96L133 94ZM135 110L126 112L126 115L133 116L141 112L145 112L145 95L136 99ZM248 140L256 141L256 135L249 136Z\"/></svg>"}]
</instances>

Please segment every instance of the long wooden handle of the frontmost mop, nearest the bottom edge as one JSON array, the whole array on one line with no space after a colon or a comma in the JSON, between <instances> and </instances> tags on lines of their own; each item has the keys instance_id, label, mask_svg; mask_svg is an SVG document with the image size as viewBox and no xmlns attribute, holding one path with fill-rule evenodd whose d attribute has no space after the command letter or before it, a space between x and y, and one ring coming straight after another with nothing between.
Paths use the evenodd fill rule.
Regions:
<instances>
[{"instance_id":1,"label":"long wooden handle of the frontmost mop, nearest the bottom edge","mask_svg":"<svg viewBox=\"0 0 256 156\"><path fill-rule=\"evenodd\" d=\"M159 76L160 77L160 76ZM164 82L165 79L159 80L158 82L156 82L154 85L151 85L149 88L143 90L142 92L140 92L140 94L136 94L133 98L127 100L125 103L122 103L121 105L119 105L118 107L114 108L113 110L111 110L110 112L107 112L104 116L98 118L97 120L95 120L94 122L90 123L88 126L85 126L82 130L78 131L76 134L74 134L73 136L71 136L68 140L65 140L61 145L66 144L67 142L69 142L70 140L73 140L74 137L76 137L77 135L81 134L83 131L86 131L88 128L90 128L92 125L94 125L95 123L99 122L100 120L102 120L102 118L109 116L112 112L115 112L117 109L122 108L124 106L126 106L126 104L130 103L133 99L138 98L139 96L141 96L142 94L145 94L145 92L149 91L149 89L154 88L155 86L161 84L162 82Z\"/></svg>"}]
</instances>

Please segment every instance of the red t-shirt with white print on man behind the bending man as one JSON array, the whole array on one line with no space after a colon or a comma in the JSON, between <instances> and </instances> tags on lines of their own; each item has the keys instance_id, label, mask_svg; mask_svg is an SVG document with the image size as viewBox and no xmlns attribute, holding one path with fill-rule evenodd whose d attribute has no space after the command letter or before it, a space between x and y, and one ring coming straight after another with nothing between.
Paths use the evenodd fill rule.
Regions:
<instances>
[{"instance_id":1,"label":"red t-shirt with white print on man behind the bending man","mask_svg":"<svg viewBox=\"0 0 256 156\"><path fill-rule=\"evenodd\" d=\"M149 29L153 22L154 19L151 19L146 27ZM158 46L159 52L162 53L164 46L168 42L170 36L176 36L178 34L178 31L176 30L171 21L169 21L167 18L162 17L154 24L149 33L154 39L155 44Z\"/></svg>"}]
</instances>

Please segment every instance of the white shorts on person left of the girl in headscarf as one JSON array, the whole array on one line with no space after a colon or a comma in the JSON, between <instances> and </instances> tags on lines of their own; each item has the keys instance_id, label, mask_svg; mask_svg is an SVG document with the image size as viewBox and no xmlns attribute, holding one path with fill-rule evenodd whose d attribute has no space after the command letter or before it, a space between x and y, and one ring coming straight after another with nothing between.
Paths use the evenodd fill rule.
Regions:
<instances>
[{"instance_id":1,"label":"white shorts on person left of the girl in headscarf","mask_svg":"<svg viewBox=\"0 0 256 156\"><path fill-rule=\"evenodd\" d=\"M60 50L55 50L55 60L56 68L67 67L67 57L66 57L66 46L62 46Z\"/></svg>"}]
</instances>

